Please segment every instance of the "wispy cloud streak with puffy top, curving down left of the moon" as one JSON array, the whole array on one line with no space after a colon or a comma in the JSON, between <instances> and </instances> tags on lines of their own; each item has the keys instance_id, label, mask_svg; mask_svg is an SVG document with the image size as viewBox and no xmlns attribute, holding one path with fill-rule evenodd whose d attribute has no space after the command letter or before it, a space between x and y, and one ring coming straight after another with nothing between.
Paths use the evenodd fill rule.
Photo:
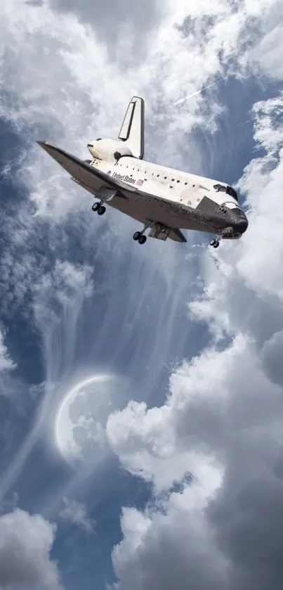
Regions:
<instances>
[{"instance_id":1,"label":"wispy cloud streak with puffy top, curving down left of the moon","mask_svg":"<svg viewBox=\"0 0 283 590\"><path fill-rule=\"evenodd\" d=\"M60 378L66 373L70 374L72 370L78 316L84 298L91 295L93 288L91 274L90 267L76 267L58 260L52 271L41 274L33 286L34 319L42 333L46 361L46 382L42 387L45 392L34 409L34 420L29 432L1 475L1 499L17 480L39 437L46 428L52 428L50 420L54 418L56 404L61 399L55 397L55 392L62 396ZM48 434L50 435L49 432Z\"/></svg>"}]
</instances>

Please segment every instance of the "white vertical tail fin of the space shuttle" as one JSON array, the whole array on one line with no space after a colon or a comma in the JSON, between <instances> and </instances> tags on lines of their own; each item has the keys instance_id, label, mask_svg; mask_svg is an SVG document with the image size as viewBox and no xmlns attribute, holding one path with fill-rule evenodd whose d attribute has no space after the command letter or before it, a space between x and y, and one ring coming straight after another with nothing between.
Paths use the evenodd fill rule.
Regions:
<instances>
[{"instance_id":1,"label":"white vertical tail fin of the space shuttle","mask_svg":"<svg viewBox=\"0 0 283 590\"><path fill-rule=\"evenodd\" d=\"M133 96L126 110L119 139L125 141L135 158L143 160L145 151L145 101Z\"/></svg>"}]
</instances>

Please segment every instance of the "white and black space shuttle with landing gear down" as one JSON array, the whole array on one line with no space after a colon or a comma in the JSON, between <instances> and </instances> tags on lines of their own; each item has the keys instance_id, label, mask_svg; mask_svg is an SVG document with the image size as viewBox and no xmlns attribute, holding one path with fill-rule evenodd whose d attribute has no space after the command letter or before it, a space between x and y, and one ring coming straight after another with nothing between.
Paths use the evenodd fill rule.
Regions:
<instances>
[{"instance_id":1,"label":"white and black space shuttle with landing gear down","mask_svg":"<svg viewBox=\"0 0 283 590\"><path fill-rule=\"evenodd\" d=\"M144 160L145 102L139 96L129 102L117 139L87 144L87 160L46 141L37 143L96 198L93 212L103 215L114 208L138 222L133 240L139 244L147 237L185 243L181 230L192 230L212 234L210 244L218 248L221 239L241 238L248 227L229 184Z\"/></svg>"}]
</instances>

